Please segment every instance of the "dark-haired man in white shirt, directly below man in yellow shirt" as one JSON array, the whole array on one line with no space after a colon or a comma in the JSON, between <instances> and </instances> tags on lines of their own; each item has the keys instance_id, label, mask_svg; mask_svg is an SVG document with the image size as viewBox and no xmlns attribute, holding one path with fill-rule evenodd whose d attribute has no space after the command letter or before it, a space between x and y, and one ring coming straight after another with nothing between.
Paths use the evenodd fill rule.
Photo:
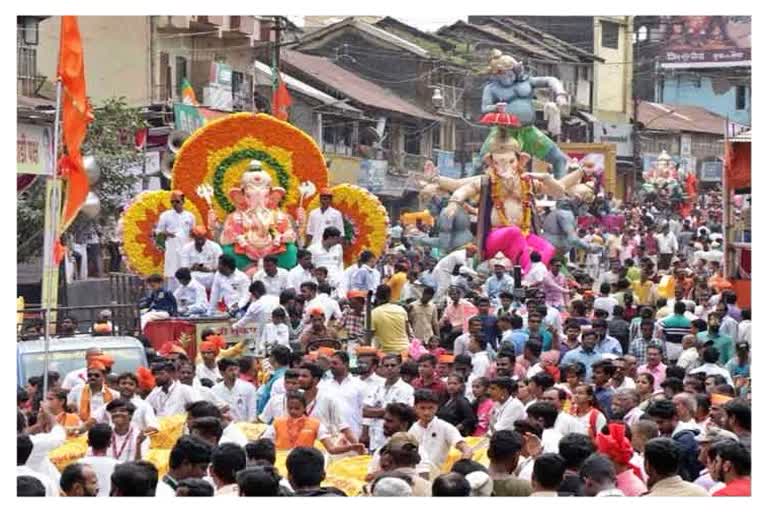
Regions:
<instances>
[{"instance_id":1,"label":"dark-haired man in white shirt, directly below man in yellow shirt","mask_svg":"<svg viewBox=\"0 0 768 512\"><path fill-rule=\"evenodd\" d=\"M368 429L371 451L378 450L386 442L383 418L387 405L402 403L413 406L413 387L400 378L400 356L385 355L381 360L381 368L386 380L371 389L363 403L364 428Z\"/></svg>"}]
</instances>

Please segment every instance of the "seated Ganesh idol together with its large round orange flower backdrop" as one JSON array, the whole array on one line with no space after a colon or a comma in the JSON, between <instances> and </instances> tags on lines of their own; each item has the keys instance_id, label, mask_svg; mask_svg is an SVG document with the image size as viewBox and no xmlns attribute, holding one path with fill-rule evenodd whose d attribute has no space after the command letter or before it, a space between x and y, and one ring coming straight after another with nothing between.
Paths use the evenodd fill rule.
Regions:
<instances>
[{"instance_id":1,"label":"seated Ganesh idol together with its large round orange flower backdrop","mask_svg":"<svg viewBox=\"0 0 768 512\"><path fill-rule=\"evenodd\" d=\"M238 113L205 124L182 145L173 166L181 190L217 234L224 254L252 273L264 256L296 265L304 207L328 186L312 138L267 114Z\"/></svg>"}]
</instances>

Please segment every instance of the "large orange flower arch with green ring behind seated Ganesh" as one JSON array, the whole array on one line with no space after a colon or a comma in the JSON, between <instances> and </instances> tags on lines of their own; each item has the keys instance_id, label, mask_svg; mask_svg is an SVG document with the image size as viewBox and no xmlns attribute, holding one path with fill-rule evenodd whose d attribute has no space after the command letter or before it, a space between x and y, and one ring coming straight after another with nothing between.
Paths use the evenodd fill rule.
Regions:
<instances>
[{"instance_id":1,"label":"large orange flower arch with green ring behind seated Ganesh","mask_svg":"<svg viewBox=\"0 0 768 512\"><path fill-rule=\"evenodd\" d=\"M238 113L207 123L182 145L173 166L172 188L181 190L205 217L209 206L197 187L214 188L213 208L221 221L233 207L229 189L239 185L250 160L261 160L274 184L286 190L283 208L291 215L299 206L299 184L328 186L328 169L312 138L268 114Z\"/></svg>"}]
</instances>

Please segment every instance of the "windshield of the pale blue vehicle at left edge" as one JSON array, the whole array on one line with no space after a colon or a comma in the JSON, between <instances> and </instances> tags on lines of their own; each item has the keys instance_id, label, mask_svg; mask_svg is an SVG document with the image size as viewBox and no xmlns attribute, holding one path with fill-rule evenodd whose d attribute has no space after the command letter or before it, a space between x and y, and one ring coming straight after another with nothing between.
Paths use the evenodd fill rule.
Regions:
<instances>
[{"instance_id":1,"label":"windshield of the pale blue vehicle at left edge","mask_svg":"<svg viewBox=\"0 0 768 512\"><path fill-rule=\"evenodd\" d=\"M48 355L48 367L51 371L58 372L64 379L67 373L85 366L85 348L82 350L64 350L51 352ZM136 368L144 364L144 351L139 347L126 347L117 349L104 349L115 360L112 373L135 372ZM43 373L43 352L23 354L21 366L25 380Z\"/></svg>"}]
</instances>

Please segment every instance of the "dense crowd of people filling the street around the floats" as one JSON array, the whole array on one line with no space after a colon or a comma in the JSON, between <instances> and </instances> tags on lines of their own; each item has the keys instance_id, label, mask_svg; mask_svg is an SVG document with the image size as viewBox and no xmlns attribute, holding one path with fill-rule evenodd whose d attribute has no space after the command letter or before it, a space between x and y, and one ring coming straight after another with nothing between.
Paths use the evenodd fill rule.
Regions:
<instances>
[{"instance_id":1,"label":"dense crowd of people filling the street around the floats","mask_svg":"<svg viewBox=\"0 0 768 512\"><path fill-rule=\"evenodd\" d=\"M344 496L329 462L368 455L371 496L750 495L751 312L723 273L717 202L681 218L608 198L623 225L579 233L599 251L534 252L527 272L475 265L473 244L437 254L399 223L386 254L344 268L326 206L295 268L265 257L248 276L190 226L177 282L148 279L142 327L225 315L255 334L205 333L198 360L168 343L119 375L94 347L45 396L30 379L18 494ZM176 414L159 478L144 455ZM83 434L59 471L48 453Z\"/></svg>"}]
</instances>

